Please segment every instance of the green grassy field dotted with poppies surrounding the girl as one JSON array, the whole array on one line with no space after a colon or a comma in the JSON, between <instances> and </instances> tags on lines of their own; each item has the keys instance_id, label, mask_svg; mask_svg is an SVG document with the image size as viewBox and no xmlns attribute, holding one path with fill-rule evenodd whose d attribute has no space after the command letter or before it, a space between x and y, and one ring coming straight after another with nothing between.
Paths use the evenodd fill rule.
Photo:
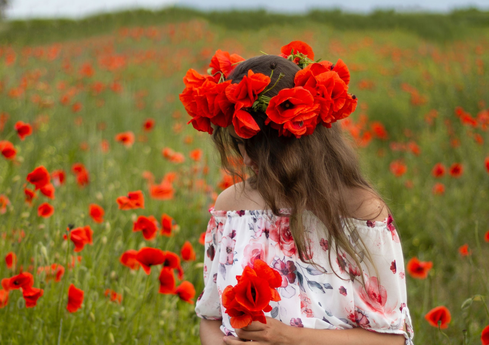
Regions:
<instances>
[{"instance_id":1,"label":"green grassy field dotted with poppies surrounding the girl","mask_svg":"<svg viewBox=\"0 0 489 345\"><path fill-rule=\"evenodd\" d=\"M462 37L440 41L375 25L345 30L302 21L233 29L190 17L146 22L153 26L109 25L96 33L80 24L66 39L58 30L50 40L51 31L40 29L37 42L37 24L4 27L0 147L9 141L16 154L7 159L5 149L0 155L0 279L22 269L44 294L26 308L20 290L9 292L6 305L0 290L0 344L148 344L150 338L151 344L198 344L194 305L159 294L156 267L147 276L119 258L146 246L180 254L190 241L197 259L182 261L177 285L194 284L195 301L203 286L199 236L228 179L208 134L186 125L189 116L178 100L182 77L191 67L205 71L218 48L249 58L260 50L278 54L292 40L350 68L349 92L359 105L343 127L393 210L405 262L417 257L433 263L425 279L407 277L414 343L480 344L489 324L487 29L470 27ZM145 131L148 118L155 125ZM17 121L32 125L32 135L21 140ZM128 131L132 145L115 139ZM165 148L177 154L167 149L164 155ZM76 163L85 166L87 184L78 183ZM432 173L437 163L445 166L443 176ZM461 174L450 174L454 163L461 164ZM66 181L52 179L54 198L38 190L29 205L24 188L34 188L26 177L41 165L51 173L64 170ZM155 185L162 189L159 198L151 192ZM144 194L144 208L119 209L116 199L136 190ZM45 202L54 207L46 218L38 215ZM90 217L90 204L105 209L103 222ZM158 231L146 240L133 232L138 216L154 215L161 223L163 214L176 223L171 236ZM92 244L74 253L63 237L68 225L90 226ZM467 255L459 250L464 244ZM4 257L10 252L17 263L8 268ZM59 281L46 272L52 264L65 270ZM84 291L74 313L67 311L71 283ZM105 296L107 289L120 294L120 302L119 295ZM444 330L450 340L424 319L440 305L451 312Z\"/></svg>"}]
</instances>

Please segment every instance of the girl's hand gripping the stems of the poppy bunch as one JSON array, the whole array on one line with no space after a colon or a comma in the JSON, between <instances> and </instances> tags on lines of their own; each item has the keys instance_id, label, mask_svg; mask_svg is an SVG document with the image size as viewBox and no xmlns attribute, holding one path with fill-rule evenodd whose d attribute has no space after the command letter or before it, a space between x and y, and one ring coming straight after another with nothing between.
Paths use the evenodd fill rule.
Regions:
<instances>
[{"instance_id":1,"label":"girl's hand gripping the stems of the poppy bunch","mask_svg":"<svg viewBox=\"0 0 489 345\"><path fill-rule=\"evenodd\" d=\"M235 329L236 335L241 339L252 340L256 345L289 345L288 334L292 326L270 317L266 318L267 323L253 321L249 326ZM239 345L243 342L233 338L224 337L223 341L227 345Z\"/></svg>"}]
</instances>

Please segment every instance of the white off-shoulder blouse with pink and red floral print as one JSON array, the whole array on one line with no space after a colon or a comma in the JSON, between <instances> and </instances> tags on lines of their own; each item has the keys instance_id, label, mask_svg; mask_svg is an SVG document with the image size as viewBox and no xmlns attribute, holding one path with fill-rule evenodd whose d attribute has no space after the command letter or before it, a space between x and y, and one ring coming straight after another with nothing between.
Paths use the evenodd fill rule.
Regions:
<instances>
[{"instance_id":1,"label":"white off-shoulder blouse with pink and red floral print","mask_svg":"<svg viewBox=\"0 0 489 345\"><path fill-rule=\"evenodd\" d=\"M282 211L287 213L288 209ZM270 302L273 309L266 316L296 327L360 326L374 332L402 334L405 345L413 345L404 260L390 215L383 222L349 219L353 227L344 227L354 246L361 243L359 238L363 240L377 266L378 276L369 261L362 260L363 253L358 255L364 270L363 288L358 279L352 280L359 278L360 271L346 253L341 250L339 255L331 253L332 265L329 264L328 248L334 245L322 237L324 231L318 230L324 225L309 211L304 217L310 241L307 255L327 273L299 259L288 217L277 217L266 210L223 211L211 207L209 212L203 267L205 286L195 311L200 318L222 320L224 334L236 336L221 304L222 291L227 285L234 286L244 267L260 258L282 275L282 286L277 289L281 300Z\"/></svg>"}]
</instances>

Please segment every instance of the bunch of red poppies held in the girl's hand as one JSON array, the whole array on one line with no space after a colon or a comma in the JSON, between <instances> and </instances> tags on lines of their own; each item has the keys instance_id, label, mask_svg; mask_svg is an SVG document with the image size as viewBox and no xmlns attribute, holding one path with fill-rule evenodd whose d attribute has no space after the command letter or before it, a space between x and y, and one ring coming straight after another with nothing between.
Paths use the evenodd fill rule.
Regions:
<instances>
[{"instance_id":1,"label":"bunch of red poppies held in the girl's hand","mask_svg":"<svg viewBox=\"0 0 489 345\"><path fill-rule=\"evenodd\" d=\"M222 305L231 317L231 326L243 328L252 321L267 323L264 312L272 310L270 301L280 300L276 289L282 284L280 273L265 261L255 259L253 268L246 266L236 279L235 286L228 285L222 292Z\"/></svg>"}]
</instances>

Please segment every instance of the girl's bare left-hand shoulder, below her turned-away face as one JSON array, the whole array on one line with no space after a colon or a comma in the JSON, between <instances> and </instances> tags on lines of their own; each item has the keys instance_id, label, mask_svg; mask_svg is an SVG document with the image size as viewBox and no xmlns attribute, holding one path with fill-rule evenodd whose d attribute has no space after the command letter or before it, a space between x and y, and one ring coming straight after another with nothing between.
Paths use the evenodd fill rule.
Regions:
<instances>
[{"instance_id":1,"label":"girl's bare left-hand shoulder, below her turned-away face","mask_svg":"<svg viewBox=\"0 0 489 345\"><path fill-rule=\"evenodd\" d=\"M223 211L263 209L263 199L258 191L239 182L227 187L219 194L214 209Z\"/></svg>"}]
</instances>

